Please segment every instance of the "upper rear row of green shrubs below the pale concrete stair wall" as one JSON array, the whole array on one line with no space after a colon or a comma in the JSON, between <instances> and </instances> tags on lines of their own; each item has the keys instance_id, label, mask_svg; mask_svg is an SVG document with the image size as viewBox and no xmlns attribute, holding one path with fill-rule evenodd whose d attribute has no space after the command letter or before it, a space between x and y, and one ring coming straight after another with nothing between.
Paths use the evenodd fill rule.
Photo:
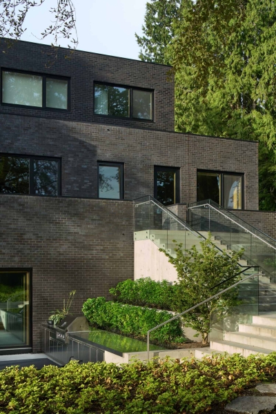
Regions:
<instances>
[{"instance_id":1,"label":"upper rear row of green shrubs below the pale concrete stair wall","mask_svg":"<svg viewBox=\"0 0 276 414\"><path fill-rule=\"evenodd\" d=\"M177 288L177 285L172 285L167 280L155 282L150 277L145 277L135 281L127 279L109 291L118 302L124 304L174 311Z\"/></svg>"}]
</instances>

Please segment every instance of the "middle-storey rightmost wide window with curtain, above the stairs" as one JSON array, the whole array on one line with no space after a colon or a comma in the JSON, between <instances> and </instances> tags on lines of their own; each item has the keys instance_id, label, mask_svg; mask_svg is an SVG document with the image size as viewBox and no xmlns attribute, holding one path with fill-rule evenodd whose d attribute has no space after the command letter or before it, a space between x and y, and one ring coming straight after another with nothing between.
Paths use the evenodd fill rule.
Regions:
<instances>
[{"instance_id":1,"label":"middle-storey rightmost wide window with curtain, above the stairs","mask_svg":"<svg viewBox=\"0 0 276 414\"><path fill-rule=\"evenodd\" d=\"M224 208L243 208L243 175L197 171L197 201L211 199Z\"/></svg>"}]
</instances>

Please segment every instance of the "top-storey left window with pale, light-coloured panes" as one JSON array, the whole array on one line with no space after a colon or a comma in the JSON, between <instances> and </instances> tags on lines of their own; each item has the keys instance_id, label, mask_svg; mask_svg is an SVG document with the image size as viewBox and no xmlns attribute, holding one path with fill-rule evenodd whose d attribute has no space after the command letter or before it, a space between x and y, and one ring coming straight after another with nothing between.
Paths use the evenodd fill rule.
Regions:
<instances>
[{"instance_id":1,"label":"top-storey left window with pale, light-coloured panes","mask_svg":"<svg viewBox=\"0 0 276 414\"><path fill-rule=\"evenodd\" d=\"M15 70L1 72L1 103L68 110L68 79Z\"/></svg>"}]
</instances>

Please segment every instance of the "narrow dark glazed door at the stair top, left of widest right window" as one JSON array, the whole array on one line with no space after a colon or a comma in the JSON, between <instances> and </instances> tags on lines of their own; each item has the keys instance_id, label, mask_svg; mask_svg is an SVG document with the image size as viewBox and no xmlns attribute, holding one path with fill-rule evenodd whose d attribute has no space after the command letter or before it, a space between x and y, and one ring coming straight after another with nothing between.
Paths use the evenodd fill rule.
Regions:
<instances>
[{"instance_id":1,"label":"narrow dark glazed door at the stair top, left of widest right window","mask_svg":"<svg viewBox=\"0 0 276 414\"><path fill-rule=\"evenodd\" d=\"M179 203L179 168L155 167L155 198L164 206Z\"/></svg>"}]
</instances>

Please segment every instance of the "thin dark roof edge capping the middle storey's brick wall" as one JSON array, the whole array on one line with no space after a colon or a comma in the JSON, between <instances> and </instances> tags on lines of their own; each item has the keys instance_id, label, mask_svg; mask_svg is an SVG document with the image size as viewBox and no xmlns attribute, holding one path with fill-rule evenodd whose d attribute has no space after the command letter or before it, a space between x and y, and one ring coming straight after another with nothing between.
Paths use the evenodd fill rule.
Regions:
<instances>
[{"instance_id":1,"label":"thin dark roof edge capping the middle storey's brick wall","mask_svg":"<svg viewBox=\"0 0 276 414\"><path fill-rule=\"evenodd\" d=\"M1 107L0 107L1 108ZM254 144L259 144L259 141L253 141L250 139L237 139L237 138L229 138L229 137L214 137L213 135L200 135L200 134L191 134L190 132L177 132L177 131L170 131L170 130L161 130L161 129L154 129L154 128L141 128L135 126L125 126L125 125L115 125L115 124L102 124L100 121L75 121L74 119L58 119L58 118L50 118L50 117L43 117L41 115L26 115L26 114L15 114L13 112L1 112L0 115L10 115L13 117L28 117L28 118L41 118L41 119L49 119L49 121L61 121L61 122L75 122L76 124L90 124L90 125L102 125L106 127L114 127L114 128L128 128L128 129L138 129L142 131L155 131L155 132L166 132L167 134L179 134L179 135L186 135L192 137L206 137L206 138L216 138L216 139L228 139L230 141L239 141L239 142L252 142Z\"/></svg>"}]
</instances>

